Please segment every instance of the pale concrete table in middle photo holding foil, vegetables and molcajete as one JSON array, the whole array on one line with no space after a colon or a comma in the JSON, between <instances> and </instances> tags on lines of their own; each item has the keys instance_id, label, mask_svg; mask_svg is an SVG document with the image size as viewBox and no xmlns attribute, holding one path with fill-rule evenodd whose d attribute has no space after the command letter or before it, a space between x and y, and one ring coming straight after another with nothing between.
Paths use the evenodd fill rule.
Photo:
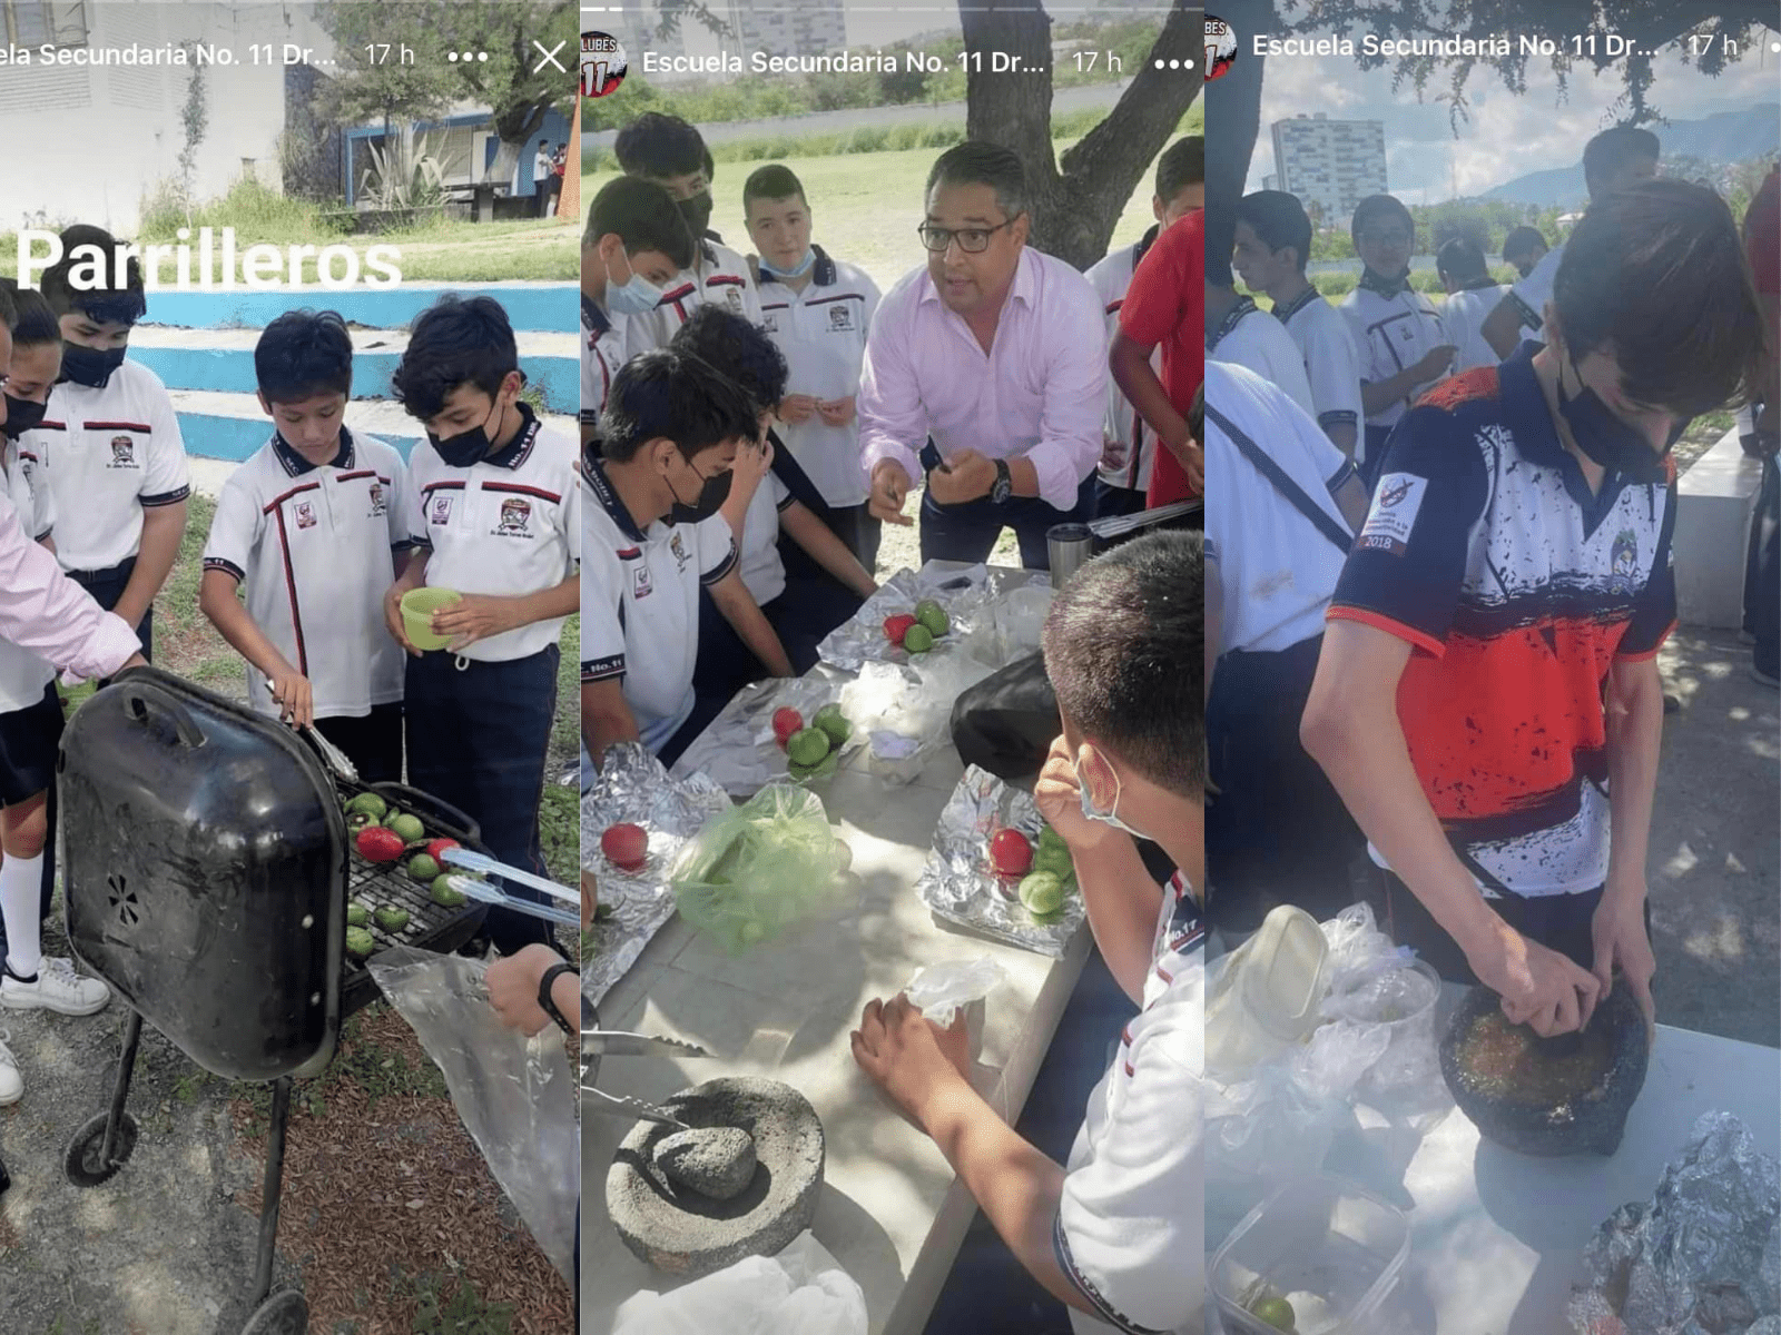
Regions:
<instances>
[{"instance_id":1,"label":"pale concrete table in middle photo holding foil, vegetables and molcajete","mask_svg":"<svg viewBox=\"0 0 1781 1335\"><path fill-rule=\"evenodd\" d=\"M611 1029L703 1045L714 1059L606 1057L600 1089L663 1100L718 1075L784 1080L816 1105L828 1164L814 1232L866 1290L871 1331L919 1335L976 1209L935 1145L905 1121L853 1061L848 1034L873 997L923 965L988 956L1008 974L990 995L972 1084L1013 1121L1088 956L1086 924L1061 959L939 922L915 897L940 810L964 774L949 748L910 785L857 765L823 805L853 851L858 908L777 945L732 958L675 917L600 1002ZM606 1219L606 1171L632 1123L582 1120L582 1335L606 1335L639 1289L677 1280L650 1269Z\"/></svg>"}]
</instances>

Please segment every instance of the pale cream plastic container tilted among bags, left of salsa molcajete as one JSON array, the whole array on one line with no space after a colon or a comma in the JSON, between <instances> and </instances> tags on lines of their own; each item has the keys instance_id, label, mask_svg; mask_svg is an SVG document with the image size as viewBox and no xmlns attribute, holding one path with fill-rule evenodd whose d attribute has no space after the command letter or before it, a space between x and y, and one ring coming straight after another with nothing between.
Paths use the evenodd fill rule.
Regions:
<instances>
[{"instance_id":1,"label":"pale cream plastic container tilted among bags, left of salsa molcajete","mask_svg":"<svg viewBox=\"0 0 1781 1335\"><path fill-rule=\"evenodd\" d=\"M1240 1080L1316 1029L1329 975L1329 942L1316 918L1293 904L1268 913L1208 986L1208 1073Z\"/></svg>"}]
</instances>

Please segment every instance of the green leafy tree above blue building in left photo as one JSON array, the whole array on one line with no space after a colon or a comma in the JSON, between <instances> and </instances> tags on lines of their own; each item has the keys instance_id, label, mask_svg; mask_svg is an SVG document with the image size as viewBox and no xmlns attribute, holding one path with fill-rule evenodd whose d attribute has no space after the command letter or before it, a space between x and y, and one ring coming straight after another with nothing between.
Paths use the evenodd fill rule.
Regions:
<instances>
[{"instance_id":1,"label":"green leafy tree above blue building in left photo","mask_svg":"<svg viewBox=\"0 0 1781 1335\"><path fill-rule=\"evenodd\" d=\"M410 134L413 121L442 116L454 101L476 101L493 112L500 148L488 171L492 180L513 174L520 150L536 139L554 107L568 116L575 98L575 7L566 0L451 0L392 5L383 0L335 0L321 21L335 39L337 55L353 61L329 89L337 119L381 116L385 134L395 125ZM533 41L557 62L540 61ZM369 44L406 46L413 64L385 59L365 62ZM488 61L447 61L449 52L488 52ZM543 64L541 69L534 66ZM565 73L565 69L568 73Z\"/></svg>"}]
</instances>

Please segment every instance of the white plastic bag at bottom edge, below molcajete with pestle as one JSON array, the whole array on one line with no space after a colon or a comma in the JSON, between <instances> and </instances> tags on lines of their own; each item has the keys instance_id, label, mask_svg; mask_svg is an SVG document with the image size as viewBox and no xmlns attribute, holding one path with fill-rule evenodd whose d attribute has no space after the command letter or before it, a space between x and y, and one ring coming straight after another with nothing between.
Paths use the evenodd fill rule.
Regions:
<instances>
[{"instance_id":1,"label":"white plastic bag at bottom edge, below molcajete with pestle","mask_svg":"<svg viewBox=\"0 0 1781 1335\"><path fill-rule=\"evenodd\" d=\"M627 1298L613 1335L866 1335L866 1294L805 1230L777 1257L744 1257L716 1274Z\"/></svg>"}]
</instances>

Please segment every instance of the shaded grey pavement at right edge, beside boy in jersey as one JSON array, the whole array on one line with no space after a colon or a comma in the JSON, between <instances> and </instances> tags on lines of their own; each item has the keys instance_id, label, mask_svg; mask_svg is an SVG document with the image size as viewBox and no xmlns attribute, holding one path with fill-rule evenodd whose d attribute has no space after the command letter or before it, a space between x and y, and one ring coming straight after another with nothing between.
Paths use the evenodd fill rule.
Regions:
<instances>
[{"instance_id":1,"label":"shaded grey pavement at right edge, beside boy in jersey","mask_svg":"<svg viewBox=\"0 0 1781 1335\"><path fill-rule=\"evenodd\" d=\"M1781 1047L1781 701L1733 632L1679 627L1647 858L1658 1020Z\"/></svg>"}]
</instances>

